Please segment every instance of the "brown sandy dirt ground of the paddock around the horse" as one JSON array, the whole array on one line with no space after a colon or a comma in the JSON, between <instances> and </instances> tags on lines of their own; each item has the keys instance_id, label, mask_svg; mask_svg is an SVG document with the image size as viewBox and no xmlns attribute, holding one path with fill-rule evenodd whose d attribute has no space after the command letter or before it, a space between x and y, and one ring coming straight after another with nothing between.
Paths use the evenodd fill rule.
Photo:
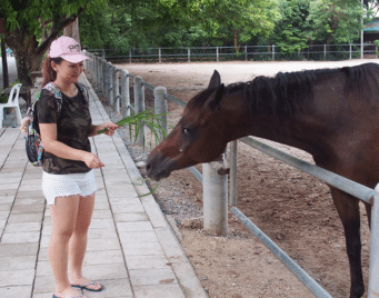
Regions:
<instances>
[{"instance_id":1,"label":"brown sandy dirt ground of the paddock around the horse","mask_svg":"<svg viewBox=\"0 0 379 298\"><path fill-rule=\"evenodd\" d=\"M150 85L164 86L184 101L203 90L215 69L226 85L251 80L253 76L272 76L278 71L352 66L368 60L342 62L208 62L122 64ZM147 107L152 95L147 90ZM182 108L168 103L170 125L180 119ZM117 117L116 117L117 118ZM313 162L310 155L288 146L265 140L276 148ZM137 161L144 151L128 145ZM201 171L201 166L197 167ZM142 175L146 175L141 168ZM153 181L149 182L154 187ZM201 183L188 171L173 172L159 182L154 197L166 215L176 219L181 245L210 297L312 297L289 270L229 212L229 232L213 237L202 230ZM241 142L238 145L237 207L275 240L332 297L348 297L350 276L345 236L331 200L329 188ZM362 266L368 285L369 230L366 210L362 218ZM365 296L367 297L367 296Z\"/></svg>"}]
</instances>

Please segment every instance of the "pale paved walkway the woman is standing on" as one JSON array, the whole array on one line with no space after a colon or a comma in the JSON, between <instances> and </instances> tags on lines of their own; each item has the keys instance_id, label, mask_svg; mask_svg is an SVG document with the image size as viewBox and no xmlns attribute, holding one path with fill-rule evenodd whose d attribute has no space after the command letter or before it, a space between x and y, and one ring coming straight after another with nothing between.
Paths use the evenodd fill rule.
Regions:
<instances>
[{"instance_id":1,"label":"pale paved walkway the woman is standing on","mask_svg":"<svg viewBox=\"0 0 379 298\"><path fill-rule=\"evenodd\" d=\"M90 86L87 78L81 81ZM33 97L40 86L33 90ZM90 87L93 123L110 121ZM23 101L21 100L21 103ZM24 105L22 116L26 113ZM26 156L14 115L0 129L0 296L52 297L47 256L51 221L41 191L41 169ZM106 167L96 170L100 190L89 232L84 275L101 281L88 298L208 297L178 239L141 179L121 138L91 138Z\"/></svg>"}]
</instances>

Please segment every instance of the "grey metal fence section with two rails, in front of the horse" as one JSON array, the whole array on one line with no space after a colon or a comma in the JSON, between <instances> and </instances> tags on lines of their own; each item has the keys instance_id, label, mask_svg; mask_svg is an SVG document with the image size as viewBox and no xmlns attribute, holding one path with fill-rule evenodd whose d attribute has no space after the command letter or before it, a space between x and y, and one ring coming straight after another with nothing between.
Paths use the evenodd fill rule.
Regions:
<instances>
[{"instance_id":1,"label":"grey metal fence section with two rails, in front of the horse","mask_svg":"<svg viewBox=\"0 0 379 298\"><path fill-rule=\"evenodd\" d=\"M368 188L356 181L347 179L335 172L325 170L320 167L311 165L307 161L298 159L251 137L245 137L239 141L258 149L282 162L290 165L301 171L305 171L330 186L333 186L365 202L372 205L371 213L371 235L370 235L370 278L369 278L369 298L379 297L379 183L376 189ZM310 277L307 277L302 269L292 261L281 249L273 244L262 231L259 230L248 218L243 216L237 208L237 141L231 145L231 170L230 170L230 205L235 206L230 211L252 232L258 239L280 260L283 265L316 296L331 297ZM285 254L285 255L283 255ZM328 296L329 295L329 296Z\"/></svg>"}]
</instances>

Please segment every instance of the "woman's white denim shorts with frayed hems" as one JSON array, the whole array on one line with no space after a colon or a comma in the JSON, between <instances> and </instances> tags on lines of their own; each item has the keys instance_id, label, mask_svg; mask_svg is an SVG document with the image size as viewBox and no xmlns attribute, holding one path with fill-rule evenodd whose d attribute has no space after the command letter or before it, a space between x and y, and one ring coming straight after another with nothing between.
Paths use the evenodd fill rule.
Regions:
<instances>
[{"instance_id":1,"label":"woman's white denim shorts with frayed hems","mask_svg":"<svg viewBox=\"0 0 379 298\"><path fill-rule=\"evenodd\" d=\"M56 175L43 171L42 191L48 205L54 205L56 198L80 195L91 196L98 187L93 170L80 173Z\"/></svg>"}]
</instances>

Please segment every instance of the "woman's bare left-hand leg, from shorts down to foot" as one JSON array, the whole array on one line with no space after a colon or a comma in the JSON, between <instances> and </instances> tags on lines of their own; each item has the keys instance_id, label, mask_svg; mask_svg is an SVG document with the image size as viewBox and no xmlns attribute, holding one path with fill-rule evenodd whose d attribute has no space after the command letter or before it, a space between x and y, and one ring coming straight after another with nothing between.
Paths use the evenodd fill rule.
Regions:
<instances>
[{"instance_id":1,"label":"woman's bare left-hand leg, from shorts down to foot","mask_svg":"<svg viewBox=\"0 0 379 298\"><path fill-rule=\"evenodd\" d=\"M56 278L56 294L76 296L78 291L71 288L68 278L69 241L74 232L79 211L79 196L56 198L50 205L51 238L49 242L49 259Z\"/></svg>"}]
</instances>

